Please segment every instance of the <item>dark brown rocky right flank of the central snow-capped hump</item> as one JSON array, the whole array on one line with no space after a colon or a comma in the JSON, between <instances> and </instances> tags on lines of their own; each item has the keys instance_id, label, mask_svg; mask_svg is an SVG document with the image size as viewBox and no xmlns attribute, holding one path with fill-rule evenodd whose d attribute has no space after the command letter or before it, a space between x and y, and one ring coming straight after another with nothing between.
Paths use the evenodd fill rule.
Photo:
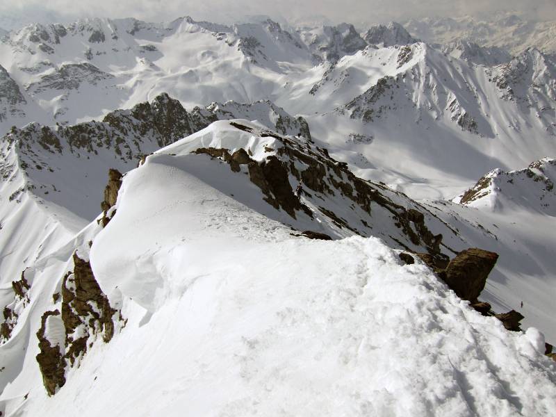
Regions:
<instances>
[{"instance_id":1,"label":"dark brown rocky right flank of the central snow-capped hump","mask_svg":"<svg viewBox=\"0 0 556 417\"><path fill-rule=\"evenodd\" d=\"M384 236L396 247L420 247L447 263L448 257L441 254L440 248L443 236L433 234L427 227L432 215L424 206L356 177L347 164L334 160L326 149L314 147L310 141L282 136L248 122L229 124L263 141L269 138L272 146L264 145L261 150L265 156L257 160L250 148L230 154L229 149L201 147L193 154L218 158L228 163L231 171L247 174L272 207L285 211L293 220L305 215L309 221L325 219L330 226L322 229L321 224L319 229L329 236ZM300 184L302 195L297 197L293 188ZM343 207L341 212L339 207ZM379 223L375 218L388 220ZM329 227L336 231L327 231Z\"/></svg>"}]
</instances>

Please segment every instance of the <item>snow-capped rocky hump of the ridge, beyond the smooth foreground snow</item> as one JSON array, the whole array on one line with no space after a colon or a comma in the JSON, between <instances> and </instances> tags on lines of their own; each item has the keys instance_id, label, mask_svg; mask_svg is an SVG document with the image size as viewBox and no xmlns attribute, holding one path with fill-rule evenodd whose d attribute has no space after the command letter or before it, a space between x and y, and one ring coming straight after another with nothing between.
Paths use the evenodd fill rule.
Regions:
<instances>
[{"instance_id":1,"label":"snow-capped rocky hump of the ridge, beyond the smooth foreground snow","mask_svg":"<svg viewBox=\"0 0 556 417\"><path fill-rule=\"evenodd\" d=\"M192 153L199 155L197 158L218 158L218 162L230 165L231 172L237 172L230 172L231 177L245 178L243 187L254 184L259 188L254 194L219 188L224 193L237 195L239 202L298 231L315 231L333 238L372 234L395 247L437 256L445 256L441 255L442 236L438 231L446 236L453 234L423 206L401 193L355 177L326 149L281 136L260 124L246 120L215 122L147 156L146 161L155 161L163 154L177 161L180 156L190 160ZM299 183L303 190L300 199L294 193Z\"/></svg>"}]
</instances>

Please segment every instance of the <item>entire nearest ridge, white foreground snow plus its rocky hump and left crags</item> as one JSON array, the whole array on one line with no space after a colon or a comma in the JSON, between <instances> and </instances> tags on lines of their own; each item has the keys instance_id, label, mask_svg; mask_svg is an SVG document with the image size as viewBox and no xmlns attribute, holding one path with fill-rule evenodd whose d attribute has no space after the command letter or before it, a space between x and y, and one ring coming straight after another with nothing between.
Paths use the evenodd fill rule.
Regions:
<instances>
[{"instance_id":1,"label":"entire nearest ridge, white foreground snow plus its rocky hump and left crags","mask_svg":"<svg viewBox=\"0 0 556 417\"><path fill-rule=\"evenodd\" d=\"M300 178L292 215L284 195ZM13 295L0 345L4 414L556 409L541 333L507 332L420 261L402 265L384 241L353 236L427 250L432 227L466 245L438 209L357 179L307 138L215 122L147 156L110 211L104 229L95 220L14 286L23 297Z\"/></svg>"}]
</instances>

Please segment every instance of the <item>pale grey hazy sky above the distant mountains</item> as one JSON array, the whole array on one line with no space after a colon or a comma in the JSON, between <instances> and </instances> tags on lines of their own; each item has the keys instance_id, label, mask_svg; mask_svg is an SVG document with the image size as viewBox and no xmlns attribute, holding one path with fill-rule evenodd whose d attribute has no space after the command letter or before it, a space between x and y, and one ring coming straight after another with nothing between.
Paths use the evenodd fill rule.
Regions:
<instances>
[{"instance_id":1,"label":"pale grey hazy sky above the distant mountains","mask_svg":"<svg viewBox=\"0 0 556 417\"><path fill-rule=\"evenodd\" d=\"M389 22L409 17L517 11L532 19L556 19L556 0L0 0L0 26L69 21L76 17L136 17L151 22L190 15L231 22L244 15L331 22ZM13 28L13 27L6 27Z\"/></svg>"}]
</instances>

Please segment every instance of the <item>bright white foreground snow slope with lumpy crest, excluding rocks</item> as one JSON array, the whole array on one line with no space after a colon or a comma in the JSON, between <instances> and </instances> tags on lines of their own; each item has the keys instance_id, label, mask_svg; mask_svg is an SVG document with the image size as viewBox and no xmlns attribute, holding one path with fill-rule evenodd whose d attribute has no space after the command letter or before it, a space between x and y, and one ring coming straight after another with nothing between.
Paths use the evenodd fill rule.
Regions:
<instances>
[{"instance_id":1,"label":"bright white foreground snow slope with lumpy crest, excluding rocks","mask_svg":"<svg viewBox=\"0 0 556 417\"><path fill-rule=\"evenodd\" d=\"M6 415L555 411L556 369L539 332L507 332L376 238L291 236L238 202L241 188L222 192L222 181L238 185L222 177L227 165L176 152L187 146L129 172L106 228L93 223L76 241L85 256L80 242L92 238L92 270L125 327L93 343L53 397L29 349L0 397ZM37 266L31 303L35 283L60 280L44 265L63 270L70 253Z\"/></svg>"}]
</instances>

